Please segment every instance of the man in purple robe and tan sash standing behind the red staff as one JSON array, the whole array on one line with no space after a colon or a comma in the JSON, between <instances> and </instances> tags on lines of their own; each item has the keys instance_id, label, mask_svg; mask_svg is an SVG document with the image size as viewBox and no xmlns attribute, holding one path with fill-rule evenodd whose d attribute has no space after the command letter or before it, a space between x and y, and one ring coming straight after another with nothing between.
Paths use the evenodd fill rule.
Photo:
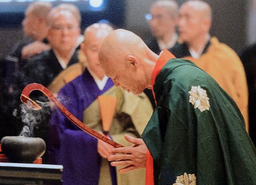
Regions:
<instances>
[{"instance_id":1,"label":"man in purple robe and tan sash standing behind the red staff","mask_svg":"<svg viewBox=\"0 0 256 185\"><path fill-rule=\"evenodd\" d=\"M107 137L129 146L124 134L140 137L152 109L146 95L135 96L116 88L105 76L98 61L98 50L112 30L108 24L94 23L84 31L81 51L87 58L87 67L59 90L58 99L76 118L102 133L97 98L100 95L116 97L115 115ZM57 108L51 115L49 130L49 162L63 165L63 184L145 184L144 170L117 174L116 179L115 168L106 160L113 147L84 133Z\"/></svg>"}]
</instances>

